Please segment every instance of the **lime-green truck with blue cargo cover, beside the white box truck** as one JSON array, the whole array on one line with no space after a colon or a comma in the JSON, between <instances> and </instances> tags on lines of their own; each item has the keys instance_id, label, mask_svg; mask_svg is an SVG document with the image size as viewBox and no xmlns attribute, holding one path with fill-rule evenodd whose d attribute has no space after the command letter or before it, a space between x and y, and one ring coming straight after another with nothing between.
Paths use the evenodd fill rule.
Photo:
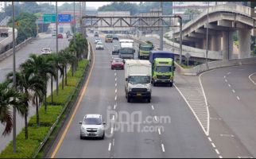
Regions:
<instances>
[{"instance_id":1,"label":"lime-green truck with blue cargo cover, beside the white box truck","mask_svg":"<svg viewBox=\"0 0 256 159\"><path fill-rule=\"evenodd\" d=\"M152 64L152 83L169 83L173 87L174 54L168 51L150 51L149 61Z\"/></svg>"}]
</instances>

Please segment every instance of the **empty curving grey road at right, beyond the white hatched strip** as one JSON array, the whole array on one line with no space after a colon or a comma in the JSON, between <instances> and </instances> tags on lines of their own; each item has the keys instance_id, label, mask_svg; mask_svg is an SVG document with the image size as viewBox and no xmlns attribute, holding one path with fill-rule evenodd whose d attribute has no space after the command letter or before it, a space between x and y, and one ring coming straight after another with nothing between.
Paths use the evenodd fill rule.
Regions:
<instances>
[{"instance_id":1,"label":"empty curving grey road at right, beyond the white hatched strip","mask_svg":"<svg viewBox=\"0 0 256 159\"><path fill-rule=\"evenodd\" d=\"M248 64L201 76L210 105L210 136L223 157L256 156L255 72L256 64Z\"/></svg>"}]
</instances>

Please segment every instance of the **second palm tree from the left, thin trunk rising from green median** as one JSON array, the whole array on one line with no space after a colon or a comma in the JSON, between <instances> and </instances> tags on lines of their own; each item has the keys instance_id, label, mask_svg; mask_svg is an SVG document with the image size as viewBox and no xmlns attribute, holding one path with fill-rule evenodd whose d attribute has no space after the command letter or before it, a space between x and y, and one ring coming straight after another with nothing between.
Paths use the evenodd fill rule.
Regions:
<instances>
[{"instance_id":1,"label":"second palm tree from the left, thin trunk rising from green median","mask_svg":"<svg viewBox=\"0 0 256 159\"><path fill-rule=\"evenodd\" d=\"M6 76L7 81L13 83L13 72L10 72ZM28 139L28 111L29 101L33 99L33 92L44 91L44 80L40 76L34 76L33 72L26 72L26 69L21 69L21 72L16 72L17 90L24 94L23 103L28 108L25 111L25 139ZM38 109L37 109L38 111ZM37 112L38 113L38 112ZM39 120L39 118L38 118ZM38 121L39 122L39 121Z\"/></svg>"}]
</instances>

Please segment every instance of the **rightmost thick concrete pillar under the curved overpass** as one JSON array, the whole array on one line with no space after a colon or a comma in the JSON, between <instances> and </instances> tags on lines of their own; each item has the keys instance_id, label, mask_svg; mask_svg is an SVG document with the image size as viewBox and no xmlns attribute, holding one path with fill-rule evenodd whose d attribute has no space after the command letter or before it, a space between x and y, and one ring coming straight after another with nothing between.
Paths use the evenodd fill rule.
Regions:
<instances>
[{"instance_id":1,"label":"rightmost thick concrete pillar under the curved overpass","mask_svg":"<svg viewBox=\"0 0 256 159\"><path fill-rule=\"evenodd\" d=\"M239 59L250 57L250 29L239 29Z\"/></svg>"}]
</instances>

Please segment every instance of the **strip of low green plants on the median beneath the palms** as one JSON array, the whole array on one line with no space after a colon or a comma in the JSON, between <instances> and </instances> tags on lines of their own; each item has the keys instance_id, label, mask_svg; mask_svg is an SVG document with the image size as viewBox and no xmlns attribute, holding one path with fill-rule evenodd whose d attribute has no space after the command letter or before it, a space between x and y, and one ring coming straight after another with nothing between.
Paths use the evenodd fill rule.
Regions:
<instances>
[{"instance_id":1,"label":"strip of low green plants on the median beneath the palms","mask_svg":"<svg viewBox=\"0 0 256 159\"><path fill-rule=\"evenodd\" d=\"M79 66L72 76L71 70L68 72L68 86L65 86L62 90L59 89L59 95L56 95L56 91L53 92L53 103L48 104L48 111L45 114L45 107L42 104L39 108L40 126L37 126L36 114L29 118L28 130L29 138L25 140L25 128L17 134L16 153L13 153L13 142L11 141L6 149L2 150L0 158L31 158L37 152L37 149L44 141L52 125L56 122L56 119L63 111L64 106L73 100L73 95L78 95L77 87L82 80L83 74L87 67L88 60L80 60ZM61 83L60 83L61 86ZM48 96L47 102L50 103L50 97ZM64 113L66 114L66 113ZM60 117L61 120L62 117ZM59 121L60 122L60 121Z\"/></svg>"}]
</instances>

